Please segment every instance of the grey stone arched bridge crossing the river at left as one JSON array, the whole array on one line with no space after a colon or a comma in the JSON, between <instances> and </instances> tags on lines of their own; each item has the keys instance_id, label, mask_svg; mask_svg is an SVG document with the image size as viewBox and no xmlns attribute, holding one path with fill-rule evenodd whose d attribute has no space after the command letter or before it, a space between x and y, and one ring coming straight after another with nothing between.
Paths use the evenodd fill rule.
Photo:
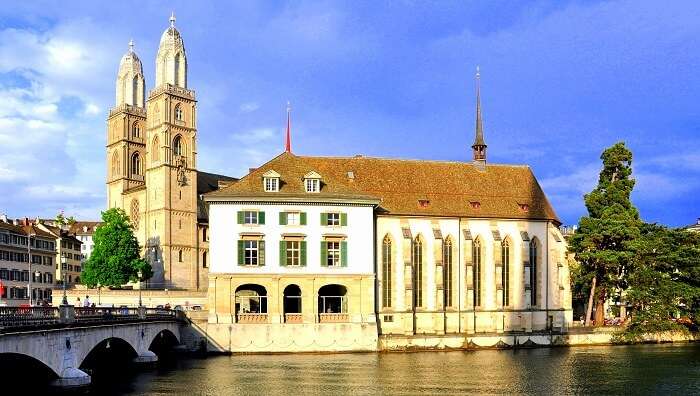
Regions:
<instances>
[{"instance_id":1,"label":"grey stone arched bridge crossing the river at left","mask_svg":"<svg viewBox=\"0 0 700 396\"><path fill-rule=\"evenodd\" d=\"M88 385L90 375L81 367L90 357L121 348L136 363L156 362L155 344L175 345L180 341L180 323L171 319L93 321L70 326L6 329L0 333L0 361L22 357L41 362L52 372L53 385ZM36 362L35 362L36 363Z\"/></svg>"}]
</instances>

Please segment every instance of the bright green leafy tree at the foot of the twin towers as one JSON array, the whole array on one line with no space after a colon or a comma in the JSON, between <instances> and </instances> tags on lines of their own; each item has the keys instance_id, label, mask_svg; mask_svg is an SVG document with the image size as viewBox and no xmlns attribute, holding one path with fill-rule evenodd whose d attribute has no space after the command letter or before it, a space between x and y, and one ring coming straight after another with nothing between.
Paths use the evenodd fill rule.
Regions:
<instances>
[{"instance_id":1,"label":"bright green leafy tree at the foot of the twin towers","mask_svg":"<svg viewBox=\"0 0 700 396\"><path fill-rule=\"evenodd\" d=\"M139 256L139 244L124 210L102 212L102 221L92 238L95 247L83 266L82 283L118 287L153 276L151 265Z\"/></svg>"}]
</instances>

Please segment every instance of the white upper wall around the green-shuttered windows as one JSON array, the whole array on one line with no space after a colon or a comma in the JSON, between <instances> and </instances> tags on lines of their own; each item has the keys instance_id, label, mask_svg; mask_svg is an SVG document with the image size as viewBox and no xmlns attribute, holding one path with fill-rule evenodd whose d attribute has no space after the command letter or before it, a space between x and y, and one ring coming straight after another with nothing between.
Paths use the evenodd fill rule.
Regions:
<instances>
[{"instance_id":1,"label":"white upper wall around the green-shuttered windows","mask_svg":"<svg viewBox=\"0 0 700 396\"><path fill-rule=\"evenodd\" d=\"M237 213L241 210L265 212L264 225L237 223ZM290 226L279 224L279 213L306 212L306 225ZM347 213L347 226L321 226L321 213ZM233 274L373 274L373 233L374 211L371 206L343 205L294 205L294 204L228 204L211 203L209 207L209 254L210 273ZM265 265L239 266L237 241L241 233L262 233L265 240ZM279 241L282 234L300 233L306 235L306 266L287 267L279 265ZM322 267L321 241L323 235L342 234L348 246L347 267Z\"/></svg>"}]
</instances>

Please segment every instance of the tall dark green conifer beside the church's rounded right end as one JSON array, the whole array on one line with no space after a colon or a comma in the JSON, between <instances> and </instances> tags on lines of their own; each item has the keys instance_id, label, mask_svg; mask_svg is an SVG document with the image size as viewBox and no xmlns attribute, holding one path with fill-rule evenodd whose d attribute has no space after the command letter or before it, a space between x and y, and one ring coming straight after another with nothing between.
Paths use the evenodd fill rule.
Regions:
<instances>
[{"instance_id":1,"label":"tall dark green conifer beside the church's rounded right end","mask_svg":"<svg viewBox=\"0 0 700 396\"><path fill-rule=\"evenodd\" d=\"M579 220L569 245L581 263L575 283L591 283L586 324L590 324L595 303L596 326L604 323L605 300L625 288L625 274L633 256L631 243L641 226L639 212L630 200L635 183L632 152L618 142L600 158L603 169L598 185L584 197L588 216Z\"/></svg>"}]
</instances>

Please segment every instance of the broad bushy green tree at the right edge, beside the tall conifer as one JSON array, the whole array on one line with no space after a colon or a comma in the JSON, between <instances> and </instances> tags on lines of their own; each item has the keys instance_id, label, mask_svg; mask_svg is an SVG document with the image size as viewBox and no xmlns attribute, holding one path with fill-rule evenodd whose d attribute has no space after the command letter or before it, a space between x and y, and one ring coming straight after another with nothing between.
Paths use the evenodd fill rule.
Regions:
<instances>
[{"instance_id":1,"label":"broad bushy green tree at the right edge, beside the tall conifer","mask_svg":"<svg viewBox=\"0 0 700 396\"><path fill-rule=\"evenodd\" d=\"M700 233L656 224L641 227L633 243L627 301L633 307L626 338L668 330L687 330L675 314L697 323L700 308Z\"/></svg>"}]
</instances>

